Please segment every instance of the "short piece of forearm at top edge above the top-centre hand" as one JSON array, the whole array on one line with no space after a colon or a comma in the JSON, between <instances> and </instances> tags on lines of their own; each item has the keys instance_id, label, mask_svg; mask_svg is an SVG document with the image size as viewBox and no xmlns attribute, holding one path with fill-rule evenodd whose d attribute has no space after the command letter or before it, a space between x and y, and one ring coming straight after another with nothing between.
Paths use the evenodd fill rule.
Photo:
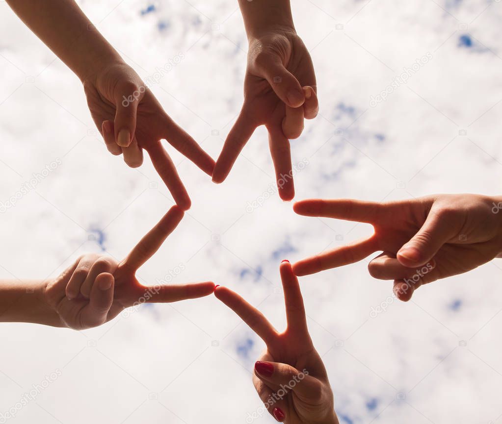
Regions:
<instances>
[{"instance_id":1,"label":"short piece of forearm at top edge above the top-centre hand","mask_svg":"<svg viewBox=\"0 0 502 424\"><path fill-rule=\"evenodd\" d=\"M247 38L257 38L270 29L295 31L290 0L238 0Z\"/></svg>"}]
</instances>

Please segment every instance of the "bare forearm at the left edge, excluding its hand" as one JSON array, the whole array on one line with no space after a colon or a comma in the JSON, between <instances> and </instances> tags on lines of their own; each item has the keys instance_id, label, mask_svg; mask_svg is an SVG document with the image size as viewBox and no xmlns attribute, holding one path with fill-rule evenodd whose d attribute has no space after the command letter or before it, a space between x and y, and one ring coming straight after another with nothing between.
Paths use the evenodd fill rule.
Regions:
<instances>
[{"instance_id":1,"label":"bare forearm at the left edge, excluding its hand","mask_svg":"<svg viewBox=\"0 0 502 424\"><path fill-rule=\"evenodd\" d=\"M62 327L58 314L45 301L46 282L0 280L0 322L31 322Z\"/></svg>"}]
</instances>

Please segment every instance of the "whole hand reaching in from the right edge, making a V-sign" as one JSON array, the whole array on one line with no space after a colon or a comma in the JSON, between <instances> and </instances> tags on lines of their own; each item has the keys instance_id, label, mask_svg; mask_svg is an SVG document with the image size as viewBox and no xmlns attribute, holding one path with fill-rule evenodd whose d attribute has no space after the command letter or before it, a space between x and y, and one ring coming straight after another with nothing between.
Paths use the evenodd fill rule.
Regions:
<instances>
[{"instance_id":1,"label":"whole hand reaching in from the right edge, making a V-sign","mask_svg":"<svg viewBox=\"0 0 502 424\"><path fill-rule=\"evenodd\" d=\"M368 239L333 249L293 266L308 275L358 262L384 251L368 265L371 276L394 280L396 296L408 301L423 284L461 274L502 252L500 198L437 194L385 203L360 200L302 200L297 214L371 224Z\"/></svg>"}]
</instances>

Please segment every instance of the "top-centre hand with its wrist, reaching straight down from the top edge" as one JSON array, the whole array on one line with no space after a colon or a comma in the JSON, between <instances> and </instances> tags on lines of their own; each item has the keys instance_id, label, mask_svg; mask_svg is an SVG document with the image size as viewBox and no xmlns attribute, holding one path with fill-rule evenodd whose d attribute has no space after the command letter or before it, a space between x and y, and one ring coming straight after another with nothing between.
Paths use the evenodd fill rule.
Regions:
<instances>
[{"instance_id":1,"label":"top-centre hand with its wrist, reaching straight down from the top edge","mask_svg":"<svg viewBox=\"0 0 502 424\"><path fill-rule=\"evenodd\" d=\"M296 34L289 0L239 0L249 42L244 104L231 128L213 173L222 182L255 129L265 125L279 195L295 195L289 139L298 138L304 119L317 115L312 60Z\"/></svg>"}]
</instances>

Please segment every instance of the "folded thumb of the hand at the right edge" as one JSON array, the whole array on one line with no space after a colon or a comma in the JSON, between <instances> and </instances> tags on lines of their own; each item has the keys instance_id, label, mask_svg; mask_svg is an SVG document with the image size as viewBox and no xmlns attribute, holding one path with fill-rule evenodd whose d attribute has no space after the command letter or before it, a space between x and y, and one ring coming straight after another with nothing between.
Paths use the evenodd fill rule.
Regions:
<instances>
[{"instance_id":1,"label":"folded thumb of the hand at the right edge","mask_svg":"<svg viewBox=\"0 0 502 424\"><path fill-rule=\"evenodd\" d=\"M457 234L453 218L454 214L432 209L418 233L398 251L398 261L405 267L417 267L429 262Z\"/></svg>"}]
</instances>

